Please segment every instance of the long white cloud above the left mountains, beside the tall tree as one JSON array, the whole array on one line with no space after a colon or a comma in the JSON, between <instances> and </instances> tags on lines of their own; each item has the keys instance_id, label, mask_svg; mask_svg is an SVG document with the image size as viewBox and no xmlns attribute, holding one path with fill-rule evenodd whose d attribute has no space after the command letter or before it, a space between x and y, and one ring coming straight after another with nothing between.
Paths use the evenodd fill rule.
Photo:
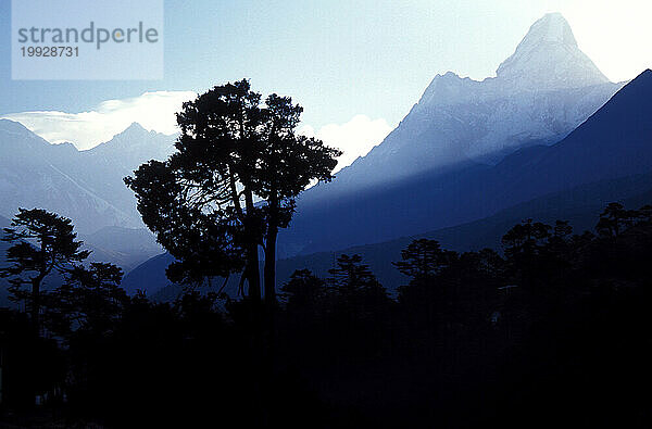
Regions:
<instances>
[{"instance_id":1,"label":"long white cloud above the left mountains, beside the tall tree","mask_svg":"<svg viewBox=\"0 0 652 429\"><path fill-rule=\"evenodd\" d=\"M175 113L185 101L196 97L192 91L145 92L135 98L104 101L89 112L22 112L3 118L20 122L51 143L70 141L78 149L90 149L111 140L135 122L150 131L175 134Z\"/></svg>"}]
</instances>

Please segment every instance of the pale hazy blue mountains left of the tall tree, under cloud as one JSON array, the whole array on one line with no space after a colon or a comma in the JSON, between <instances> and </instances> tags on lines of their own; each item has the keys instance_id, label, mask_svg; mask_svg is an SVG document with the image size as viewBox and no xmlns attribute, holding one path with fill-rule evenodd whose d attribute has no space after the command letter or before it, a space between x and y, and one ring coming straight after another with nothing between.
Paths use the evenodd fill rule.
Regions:
<instances>
[{"instance_id":1,"label":"pale hazy blue mountains left of the tall tree, under cloud","mask_svg":"<svg viewBox=\"0 0 652 429\"><path fill-rule=\"evenodd\" d=\"M123 177L148 160L166 159L175 139L133 124L111 141L78 151L0 119L0 215L41 207L72 218L87 235L109 226L142 228Z\"/></svg>"}]
</instances>

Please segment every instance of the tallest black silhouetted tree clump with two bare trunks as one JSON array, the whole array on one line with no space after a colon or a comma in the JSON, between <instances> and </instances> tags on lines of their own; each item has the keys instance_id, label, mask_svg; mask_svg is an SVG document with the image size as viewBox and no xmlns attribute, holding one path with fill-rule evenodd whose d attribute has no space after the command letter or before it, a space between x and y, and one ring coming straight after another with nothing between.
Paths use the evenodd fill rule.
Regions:
<instances>
[{"instance_id":1,"label":"tallest black silhouetted tree clump with two bare trunks","mask_svg":"<svg viewBox=\"0 0 652 429\"><path fill-rule=\"evenodd\" d=\"M177 152L125 179L145 223L181 262L174 278L226 277L241 269L244 254L240 285L247 279L248 296L258 302L264 245L266 298L275 300L278 229L288 225L299 192L330 179L340 154L296 135L301 111L276 94L262 105L247 80L214 87L177 114Z\"/></svg>"}]
</instances>

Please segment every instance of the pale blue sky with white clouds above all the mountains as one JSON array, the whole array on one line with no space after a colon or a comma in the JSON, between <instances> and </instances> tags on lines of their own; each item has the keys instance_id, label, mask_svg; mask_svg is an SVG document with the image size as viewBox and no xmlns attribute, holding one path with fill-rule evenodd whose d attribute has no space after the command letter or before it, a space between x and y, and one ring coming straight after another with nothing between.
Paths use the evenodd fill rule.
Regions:
<instances>
[{"instance_id":1,"label":"pale blue sky with white clouds above all the mountains","mask_svg":"<svg viewBox=\"0 0 652 429\"><path fill-rule=\"evenodd\" d=\"M28 1L28 0L25 0ZM448 71L493 76L529 26L561 12L614 81L652 67L649 0L165 0L161 80L11 80L0 0L0 116L88 149L139 122L174 131L184 100L242 77L304 108L302 133L364 155Z\"/></svg>"}]
</instances>

